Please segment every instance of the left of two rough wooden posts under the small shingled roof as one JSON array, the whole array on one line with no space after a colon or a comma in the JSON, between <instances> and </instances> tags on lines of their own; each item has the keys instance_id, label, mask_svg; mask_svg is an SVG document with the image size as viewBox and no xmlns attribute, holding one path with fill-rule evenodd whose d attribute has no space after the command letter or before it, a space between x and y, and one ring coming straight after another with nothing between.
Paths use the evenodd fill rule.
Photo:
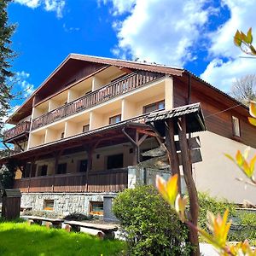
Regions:
<instances>
[{"instance_id":1,"label":"left of two rough wooden posts under the small shingled roof","mask_svg":"<svg viewBox=\"0 0 256 256\"><path fill-rule=\"evenodd\" d=\"M179 170L179 162L177 157L177 148L174 142L174 124L172 119L166 120L166 148L168 157L170 160L170 165L172 169L172 174L177 174L177 184L178 184L178 192L181 194L181 177Z\"/></svg>"}]
</instances>

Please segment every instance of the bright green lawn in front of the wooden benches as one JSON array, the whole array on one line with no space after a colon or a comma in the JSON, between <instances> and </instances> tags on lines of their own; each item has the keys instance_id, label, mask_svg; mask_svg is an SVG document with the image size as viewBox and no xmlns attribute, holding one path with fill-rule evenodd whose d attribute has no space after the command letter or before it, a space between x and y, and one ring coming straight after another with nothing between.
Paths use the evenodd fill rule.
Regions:
<instances>
[{"instance_id":1,"label":"bright green lawn in front of the wooden benches","mask_svg":"<svg viewBox=\"0 0 256 256\"><path fill-rule=\"evenodd\" d=\"M125 243L36 224L0 223L0 255L123 255Z\"/></svg>"}]
</instances>

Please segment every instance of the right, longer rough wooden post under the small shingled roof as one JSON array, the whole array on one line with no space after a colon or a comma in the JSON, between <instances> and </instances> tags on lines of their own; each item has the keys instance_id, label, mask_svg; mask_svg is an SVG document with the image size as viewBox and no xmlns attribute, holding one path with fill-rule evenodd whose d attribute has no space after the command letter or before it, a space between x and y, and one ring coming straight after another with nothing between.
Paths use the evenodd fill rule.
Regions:
<instances>
[{"instance_id":1,"label":"right, longer rough wooden post under the small shingled roof","mask_svg":"<svg viewBox=\"0 0 256 256\"><path fill-rule=\"evenodd\" d=\"M185 116L178 119L178 137L182 153L183 175L189 192L189 218L190 221L195 226L197 226L199 205L197 190L195 188L195 182L192 177L192 162L189 154L189 145L187 141ZM189 241L192 243L193 246L195 246L195 251L192 252L191 255L199 256L200 250L197 230L189 228Z\"/></svg>"}]
</instances>

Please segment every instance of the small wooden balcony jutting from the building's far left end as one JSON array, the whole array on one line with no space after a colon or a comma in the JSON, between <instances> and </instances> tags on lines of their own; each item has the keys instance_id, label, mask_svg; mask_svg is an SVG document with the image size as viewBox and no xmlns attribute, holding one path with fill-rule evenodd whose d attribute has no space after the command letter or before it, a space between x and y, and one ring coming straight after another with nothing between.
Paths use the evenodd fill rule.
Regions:
<instances>
[{"instance_id":1,"label":"small wooden balcony jutting from the building's far left end","mask_svg":"<svg viewBox=\"0 0 256 256\"><path fill-rule=\"evenodd\" d=\"M3 142L4 143L14 143L20 142L24 140L24 138L28 137L28 133L30 131L30 121L24 121L15 127L4 131L3 133Z\"/></svg>"}]
</instances>

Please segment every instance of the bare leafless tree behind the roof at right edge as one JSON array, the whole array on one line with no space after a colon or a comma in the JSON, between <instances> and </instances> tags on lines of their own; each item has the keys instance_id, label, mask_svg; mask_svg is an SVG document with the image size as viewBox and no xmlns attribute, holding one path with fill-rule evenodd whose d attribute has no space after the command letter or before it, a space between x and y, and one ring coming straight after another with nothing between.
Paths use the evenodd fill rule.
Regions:
<instances>
[{"instance_id":1,"label":"bare leafless tree behind the roof at right edge","mask_svg":"<svg viewBox=\"0 0 256 256\"><path fill-rule=\"evenodd\" d=\"M248 74L241 79L236 79L231 87L231 94L245 105L256 101L256 74Z\"/></svg>"}]
</instances>

